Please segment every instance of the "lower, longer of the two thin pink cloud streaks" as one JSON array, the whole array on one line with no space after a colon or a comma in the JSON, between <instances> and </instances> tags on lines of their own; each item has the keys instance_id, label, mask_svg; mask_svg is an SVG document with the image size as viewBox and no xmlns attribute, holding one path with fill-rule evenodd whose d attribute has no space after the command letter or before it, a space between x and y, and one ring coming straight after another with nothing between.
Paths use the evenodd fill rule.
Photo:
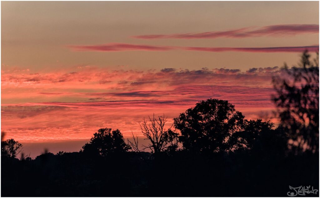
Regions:
<instances>
[{"instance_id":1,"label":"lower, longer of the two thin pink cloud streaks","mask_svg":"<svg viewBox=\"0 0 320 198\"><path fill-rule=\"evenodd\" d=\"M158 46L158 45L135 45L135 44L121 44L110 43L103 45L69 45L76 51L169 51L169 50L183 50L183 51L207 51L207 52L225 52L225 51L240 51L240 52L302 52L318 51L318 45L309 46L285 46L285 47L178 47L178 46ZM31 80L37 80L30 79Z\"/></svg>"}]
</instances>

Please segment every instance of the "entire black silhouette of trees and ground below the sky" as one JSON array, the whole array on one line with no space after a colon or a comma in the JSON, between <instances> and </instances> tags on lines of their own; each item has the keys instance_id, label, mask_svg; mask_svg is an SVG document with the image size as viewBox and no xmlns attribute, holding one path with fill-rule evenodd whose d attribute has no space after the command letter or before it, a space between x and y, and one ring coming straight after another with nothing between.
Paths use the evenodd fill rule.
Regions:
<instances>
[{"instance_id":1,"label":"entire black silhouette of trees and ground below the sky","mask_svg":"<svg viewBox=\"0 0 320 198\"><path fill-rule=\"evenodd\" d=\"M143 119L148 145L103 128L80 152L31 159L19 142L2 140L1 195L287 196L289 186L319 189L318 59L305 52L282 72L273 79L277 127L208 99L172 126L164 115Z\"/></svg>"}]
</instances>

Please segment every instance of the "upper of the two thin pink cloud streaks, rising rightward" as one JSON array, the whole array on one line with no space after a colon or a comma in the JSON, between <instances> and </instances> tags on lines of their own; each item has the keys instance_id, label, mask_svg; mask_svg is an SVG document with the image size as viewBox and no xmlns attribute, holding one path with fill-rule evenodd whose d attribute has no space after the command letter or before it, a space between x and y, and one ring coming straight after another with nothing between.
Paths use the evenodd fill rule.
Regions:
<instances>
[{"instance_id":1,"label":"upper of the two thin pink cloud streaks, rising rightward","mask_svg":"<svg viewBox=\"0 0 320 198\"><path fill-rule=\"evenodd\" d=\"M185 34L158 34L158 35L138 35L132 36L139 39L208 39L208 38L245 38L257 36L290 36L306 33L319 33L317 24L284 24L271 25L261 28L241 28L228 31L212 31L201 33Z\"/></svg>"}]
</instances>

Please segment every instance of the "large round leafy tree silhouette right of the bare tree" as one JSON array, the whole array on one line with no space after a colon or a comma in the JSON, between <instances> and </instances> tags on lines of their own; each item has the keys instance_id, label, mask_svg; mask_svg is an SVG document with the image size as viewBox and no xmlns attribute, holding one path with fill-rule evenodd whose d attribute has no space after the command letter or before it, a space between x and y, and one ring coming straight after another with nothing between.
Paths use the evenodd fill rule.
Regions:
<instances>
[{"instance_id":1,"label":"large round leafy tree silhouette right of the bare tree","mask_svg":"<svg viewBox=\"0 0 320 198\"><path fill-rule=\"evenodd\" d=\"M244 116L227 100L207 99L174 118L181 131L184 149L194 152L220 152L232 149L232 134L243 129Z\"/></svg>"}]
</instances>

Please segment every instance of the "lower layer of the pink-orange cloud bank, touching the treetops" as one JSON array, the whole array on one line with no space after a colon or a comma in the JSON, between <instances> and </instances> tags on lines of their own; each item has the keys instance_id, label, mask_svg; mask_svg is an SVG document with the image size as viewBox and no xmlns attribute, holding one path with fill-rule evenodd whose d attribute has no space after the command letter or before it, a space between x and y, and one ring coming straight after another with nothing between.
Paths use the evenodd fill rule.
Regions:
<instances>
[{"instance_id":1,"label":"lower layer of the pink-orange cloud bank, touching the treetops","mask_svg":"<svg viewBox=\"0 0 320 198\"><path fill-rule=\"evenodd\" d=\"M100 94L122 99L113 101L5 104L1 130L7 138L25 142L89 139L102 127L118 128L128 137L131 131L139 134L143 117L164 113L172 123L172 118L208 98L227 99L247 118L256 119L259 113L273 109L272 92L272 88L185 85L167 91Z\"/></svg>"}]
</instances>

